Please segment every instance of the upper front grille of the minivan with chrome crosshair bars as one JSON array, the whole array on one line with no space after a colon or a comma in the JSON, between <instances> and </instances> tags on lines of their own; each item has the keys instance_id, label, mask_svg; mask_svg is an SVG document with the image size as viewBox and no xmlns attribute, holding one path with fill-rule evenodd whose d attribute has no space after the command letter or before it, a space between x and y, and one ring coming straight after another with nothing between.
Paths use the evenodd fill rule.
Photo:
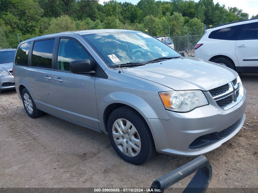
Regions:
<instances>
[{"instance_id":1,"label":"upper front grille of the minivan with chrome crosshair bars","mask_svg":"<svg viewBox=\"0 0 258 193\"><path fill-rule=\"evenodd\" d=\"M241 81L238 82L236 78L232 82L227 83L228 87L224 84L223 86L209 90L209 93L221 109L230 109L242 100L243 96L239 94L240 82ZM225 90L225 88L228 89ZM221 93L218 94L217 91L221 91ZM214 95L214 93L216 93L216 95Z\"/></svg>"}]
</instances>

